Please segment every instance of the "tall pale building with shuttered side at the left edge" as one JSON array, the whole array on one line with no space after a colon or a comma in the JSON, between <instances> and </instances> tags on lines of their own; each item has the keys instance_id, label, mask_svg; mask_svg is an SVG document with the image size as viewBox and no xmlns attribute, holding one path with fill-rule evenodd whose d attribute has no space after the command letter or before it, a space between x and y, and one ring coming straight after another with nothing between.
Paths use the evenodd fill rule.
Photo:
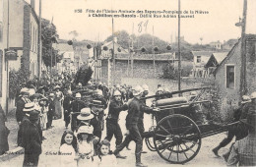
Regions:
<instances>
[{"instance_id":1,"label":"tall pale building with shuttered side at the left edge","mask_svg":"<svg viewBox=\"0 0 256 167\"><path fill-rule=\"evenodd\" d=\"M38 18L34 12L34 0L31 4L25 0L0 0L0 101L5 110L13 106L10 104L8 109L6 105L9 98L8 71L19 70L23 63L32 72L31 79L39 73ZM16 52L16 60L7 63L7 49Z\"/></svg>"}]
</instances>

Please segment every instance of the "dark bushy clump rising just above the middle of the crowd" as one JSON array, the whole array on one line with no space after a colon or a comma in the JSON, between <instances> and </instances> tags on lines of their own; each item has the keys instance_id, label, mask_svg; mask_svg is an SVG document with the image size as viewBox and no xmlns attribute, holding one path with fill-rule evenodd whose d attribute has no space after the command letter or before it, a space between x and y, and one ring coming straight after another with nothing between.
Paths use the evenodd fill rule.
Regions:
<instances>
[{"instance_id":1,"label":"dark bushy clump rising just above the middle of the crowd","mask_svg":"<svg viewBox=\"0 0 256 167\"><path fill-rule=\"evenodd\" d=\"M92 70L92 67L83 65L77 72L74 83L82 83L83 86L87 85L91 80L93 73L94 71Z\"/></svg>"}]
</instances>

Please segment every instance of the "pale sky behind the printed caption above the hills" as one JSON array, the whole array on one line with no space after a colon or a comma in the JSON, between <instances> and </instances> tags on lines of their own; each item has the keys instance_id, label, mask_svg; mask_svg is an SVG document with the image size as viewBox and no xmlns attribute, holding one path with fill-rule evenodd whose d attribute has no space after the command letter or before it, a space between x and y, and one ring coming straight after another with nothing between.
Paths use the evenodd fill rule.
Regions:
<instances>
[{"instance_id":1,"label":"pale sky behind the printed caption above the hills","mask_svg":"<svg viewBox=\"0 0 256 167\"><path fill-rule=\"evenodd\" d=\"M29 1L30 0L26 0ZM42 18L52 20L60 38L71 39L69 34L77 30L78 40L103 41L112 33L111 18L89 17L89 10L140 10L140 11L177 11L178 0L41 0ZM238 38L241 28L234 24L242 18L243 0L180 0L181 11L207 11L194 18L181 18L180 34L190 43L224 42ZM38 13L39 0L35 0ZM82 13L75 10L82 9ZM246 33L256 33L256 0L248 0ZM137 15L137 14L136 14ZM189 14L190 15L190 14ZM151 33L167 42L175 41L178 35L177 18L115 18L114 31L126 30L140 35ZM139 24L142 25L140 29ZM146 25L147 24L147 25ZM146 27L147 26L147 27Z\"/></svg>"}]
</instances>

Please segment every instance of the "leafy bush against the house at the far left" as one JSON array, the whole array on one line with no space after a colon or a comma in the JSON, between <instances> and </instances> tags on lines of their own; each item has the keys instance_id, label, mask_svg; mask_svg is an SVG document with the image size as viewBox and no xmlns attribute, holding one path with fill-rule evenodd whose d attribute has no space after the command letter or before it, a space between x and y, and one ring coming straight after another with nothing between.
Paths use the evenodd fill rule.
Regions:
<instances>
[{"instance_id":1,"label":"leafy bush against the house at the far left","mask_svg":"<svg viewBox=\"0 0 256 167\"><path fill-rule=\"evenodd\" d=\"M21 85L29 82L31 72L26 68L19 71L11 70L9 72L9 97L15 98L20 92Z\"/></svg>"}]
</instances>

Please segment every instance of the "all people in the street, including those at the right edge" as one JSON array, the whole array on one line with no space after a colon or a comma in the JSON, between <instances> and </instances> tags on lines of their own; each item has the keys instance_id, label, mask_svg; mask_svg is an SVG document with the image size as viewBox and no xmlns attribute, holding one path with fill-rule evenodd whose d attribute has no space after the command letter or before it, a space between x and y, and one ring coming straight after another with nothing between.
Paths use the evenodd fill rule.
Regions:
<instances>
[{"instance_id":1,"label":"all people in the street, including those at the right edge","mask_svg":"<svg viewBox=\"0 0 256 167\"><path fill-rule=\"evenodd\" d=\"M116 166L116 158L126 158L120 152L125 147L130 149L128 145L132 140L136 143L135 165L147 166L141 161L141 153L147 153L143 151L144 113L160 112L156 103L149 105L144 98L149 95L149 86L116 84L110 88L105 83L91 82L84 86L82 83L73 87L66 85L57 82L50 86L30 84L21 88L16 99L16 119L19 124L17 144L25 148L24 166L37 166L41 143L46 139L44 133L53 128L54 120L58 119L64 119L66 128L60 139L61 166ZM169 92L167 88L158 85L155 100L171 97L166 92ZM191 92L189 100L195 96ZM256 141L255 106L256 92L242 97L241 105L234 112L234 122L240 120L241 123L229 129L227 138L213 149L219 156L219 149L236 137L237 141L224 155L228 165L256 165L253 158L256 149L249 148ZM126 132L121 131L118 123L122 111L127 111ZM106 137L102 139L104 128ZM113 137L116 140L112 151Z\"/></svg>"}]
</instances>

